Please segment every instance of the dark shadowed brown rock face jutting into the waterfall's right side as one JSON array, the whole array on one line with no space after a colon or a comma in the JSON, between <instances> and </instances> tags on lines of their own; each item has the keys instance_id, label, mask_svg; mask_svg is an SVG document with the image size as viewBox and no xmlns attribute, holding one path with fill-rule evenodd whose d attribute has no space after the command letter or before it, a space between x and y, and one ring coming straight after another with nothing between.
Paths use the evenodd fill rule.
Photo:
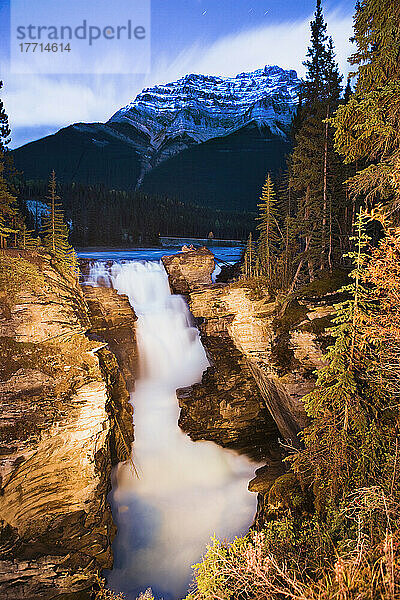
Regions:
<instances>
[{"instance_id":1,"label":"dark shadowed brown rock face jutting into the waterfall's right side","mask_svg":"<svg viewBox=\"0 0 400 600\"><path fill-rule=\"evenodd\" d=\"M210 440L254 460L277 459L279 432L243 355L223 328L202 341L212 360L201 383L178 390L179 426L193 440Z\"/></svg>"}]
</instances>

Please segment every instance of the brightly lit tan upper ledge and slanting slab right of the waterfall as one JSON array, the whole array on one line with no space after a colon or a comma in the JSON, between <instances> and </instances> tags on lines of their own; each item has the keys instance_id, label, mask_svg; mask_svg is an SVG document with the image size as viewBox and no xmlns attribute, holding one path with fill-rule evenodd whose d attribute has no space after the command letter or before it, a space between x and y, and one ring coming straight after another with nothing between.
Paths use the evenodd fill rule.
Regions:
<instances>
[{"instance_id":1,"label":"brightly lit tan upper ledge and slanting slab right of the waterfall","mask_svg":"<svg viewBox=\"0 0 400 600\"><path fill-rule=\"evenodd\" d=\"M332 309L304 302L290 322L290 315L277 314L275 302L264 295L257 298L254 290L240 283L194 291L190 308L202 322L207 347L207 338L211 336L218 343L221 331L226 332L281 438L297 445L298 433L307 423L302 398L314 386L313 372L323 365L317 321L325 319Z\"/></svg>"}]
</instances>

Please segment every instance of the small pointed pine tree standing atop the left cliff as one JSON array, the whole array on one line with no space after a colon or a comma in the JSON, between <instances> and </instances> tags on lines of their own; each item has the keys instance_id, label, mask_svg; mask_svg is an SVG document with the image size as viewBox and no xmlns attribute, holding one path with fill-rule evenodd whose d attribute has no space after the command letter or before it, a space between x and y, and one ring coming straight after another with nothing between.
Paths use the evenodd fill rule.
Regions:
<instances>
[{"instance_id":1,"label":"small pointed pine tree standing atop the left cliff","mask_svg":"<svg viewBox=\"0 0 400 600\"><path fill-rule=\"evenodd\" d=\"M63 268L76 269L76 254L68 242L69 231L57 195L56 174L52 171L46 196L48 213L42 219L43 245Z\"/></svg>"}]
</instances>

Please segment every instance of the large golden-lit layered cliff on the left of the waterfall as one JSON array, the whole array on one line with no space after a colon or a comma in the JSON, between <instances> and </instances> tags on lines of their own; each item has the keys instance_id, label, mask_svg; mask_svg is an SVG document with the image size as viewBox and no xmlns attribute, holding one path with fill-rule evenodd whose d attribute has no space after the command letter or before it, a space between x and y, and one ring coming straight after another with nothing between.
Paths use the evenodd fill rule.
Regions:
<instances>
[{"instance_id":1,"label":"large golden-lit layered cliff on the left of the waterfall","mask_svg":"<svg viewBox=\"0 0 400 600\"><path fill-rule=\"evenodd\" d=\"M129 394L114 355L85 335L75 278L48 256L18 260L23 283L0 298L0 596L83 598L112 566L107 494L130 456Z\"/></svg>"}]
</instances>

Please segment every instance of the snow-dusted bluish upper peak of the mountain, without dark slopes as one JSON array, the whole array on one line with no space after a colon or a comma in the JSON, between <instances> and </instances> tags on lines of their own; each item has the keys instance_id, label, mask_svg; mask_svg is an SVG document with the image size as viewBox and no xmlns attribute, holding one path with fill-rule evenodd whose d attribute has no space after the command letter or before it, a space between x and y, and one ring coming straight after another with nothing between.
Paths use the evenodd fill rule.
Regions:
<instances>
[{"instance_id":1,"label":"snow-dusted bluish upper peak of the mountain, without dark slopes","mask_svg":"<svg viewBox=\"0 0 400 600\"><path fill-rule=\"evenodd\" d=\"M299 84L296 71L277 66L236 77L186 75L174 83L144 89L108 123L139 129L154 148L177 136L205 142L249 122L285 136Z\"/></svg>"}]
</instances>

